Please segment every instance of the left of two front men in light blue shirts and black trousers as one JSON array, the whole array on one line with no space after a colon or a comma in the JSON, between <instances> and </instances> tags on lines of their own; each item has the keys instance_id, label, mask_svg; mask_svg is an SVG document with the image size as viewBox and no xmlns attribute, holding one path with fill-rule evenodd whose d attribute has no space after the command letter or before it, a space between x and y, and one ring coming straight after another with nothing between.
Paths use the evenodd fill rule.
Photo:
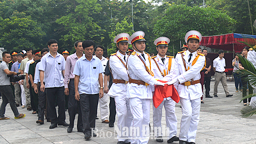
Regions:
<instances>
[{"instance_id":1,"label":"left of two front men in light blue shirts and black trousers","mask_svg":"<svg viewBox=\"0 0 256 144\"><path fill-rule=\"evenodd\" d=\"M54 129L58 125L68 126L65 122L65 93L64 93L64 75L65 75L65 58L59 54L58 42L55 39L48 41L50 52L45 54L41 59L40 70L40 90L46 90L46 98L49 109L49 117L51 119L50 129ZM45 81L45 85L44 85ZM55 100L57 98L58 114L55 109Z\"/></svg>"}]
</instances>

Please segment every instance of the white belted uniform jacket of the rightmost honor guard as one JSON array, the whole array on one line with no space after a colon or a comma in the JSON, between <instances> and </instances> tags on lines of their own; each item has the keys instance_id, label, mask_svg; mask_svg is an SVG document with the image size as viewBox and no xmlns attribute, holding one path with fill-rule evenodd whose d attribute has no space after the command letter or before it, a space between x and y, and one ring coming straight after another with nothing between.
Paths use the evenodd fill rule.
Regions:
<instances>
[{"instance_id":1,"label":"white belted uniform jacket of the rightmost honor guard","mask_svg":"<svg viewBox=\"0 0 256 144\"><path fill-rule=\"evenodd\" d=\"M181 54L186 62L186 67L189 69L186 71L183 65ZM200 71L203 69L205 64L205 56L200 55L194 66L192 66L193 60L197 57L197 52L193 52L190 62L188 62L190 52L187 50L183 53L178 53L175 57L173 79L177 78L178 82L174 84L177 89L179 96L184 99L195 100L202 97L202 86L201 83L194 85L185 86L182 83L194 81L201 78Z\"/></svg>"}]
</instances>

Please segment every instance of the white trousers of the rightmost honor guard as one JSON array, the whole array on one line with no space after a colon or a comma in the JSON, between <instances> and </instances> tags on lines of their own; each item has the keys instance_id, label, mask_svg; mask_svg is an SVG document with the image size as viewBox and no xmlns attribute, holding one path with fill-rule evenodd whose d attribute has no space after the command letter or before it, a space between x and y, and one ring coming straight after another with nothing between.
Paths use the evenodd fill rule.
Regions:
<instances>
[{"instance_id":1,"label":"white trousers of the rightmost honor guard","mask_svg":"<svg viewBox=\"0 0 256 144\"><path fill-rule=\"evenodd\" d=\"M180 122L179 139L188 142L196 141L197 125L199 123L199 113L201 99L190 100L180 98L182 117Z\"/></svg>"}]
</instances>

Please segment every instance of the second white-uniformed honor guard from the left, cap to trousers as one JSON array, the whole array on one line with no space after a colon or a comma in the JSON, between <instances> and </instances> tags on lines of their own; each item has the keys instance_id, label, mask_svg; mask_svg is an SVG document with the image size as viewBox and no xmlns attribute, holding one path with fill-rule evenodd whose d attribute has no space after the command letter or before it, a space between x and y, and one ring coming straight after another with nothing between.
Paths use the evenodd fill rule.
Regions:
<instances>
[{"instance_id":1,"label":"second white-uniformed honor guard from the left, cap to trousers","mask_svg":"<svg viewBox=\"0 0 256 144\"><path fill-rule=\"evenodd\" d=\"M132 44L134 51L127 60L129 71L129 83L127 84L127 98L130 100L131 113L133 115L133 130L131 143L148 143L149 140L149 113L152 90L149 85L164 85L156 81L151 70L151 58L145 53L145 33L135 32L128 43ZM138 130L139 129L139 130Z\"/></svg>"}]
</instances>

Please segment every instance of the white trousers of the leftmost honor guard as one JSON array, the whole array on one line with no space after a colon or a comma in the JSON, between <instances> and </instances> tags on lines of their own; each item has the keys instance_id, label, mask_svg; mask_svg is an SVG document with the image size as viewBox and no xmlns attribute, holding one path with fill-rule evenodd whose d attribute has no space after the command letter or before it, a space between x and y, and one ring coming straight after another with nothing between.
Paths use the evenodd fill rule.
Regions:
<instances>
[{"instance_id":1,"label":"white trousers of the leftmost honor guard","mask_svg":"<svg viewBox=\"0 0 256 144\"><path fill-rule=\"evenodd\" d=\"M119 131L121 131L121 134L123 134L123 127L128 127L130 129L131 123L132 123L132 113L130 109L130 102L129 99L126 98L126 95L124 97L117 96L115 97L115 103L116 103L116 114L118 116L117 121L117 127ZM127 133L126 133L127 134ZM130 134L130 133L128 133ZM130 142L130 137L117 135L118 141L125 141Z\"/></svg>"}]
</instances>

